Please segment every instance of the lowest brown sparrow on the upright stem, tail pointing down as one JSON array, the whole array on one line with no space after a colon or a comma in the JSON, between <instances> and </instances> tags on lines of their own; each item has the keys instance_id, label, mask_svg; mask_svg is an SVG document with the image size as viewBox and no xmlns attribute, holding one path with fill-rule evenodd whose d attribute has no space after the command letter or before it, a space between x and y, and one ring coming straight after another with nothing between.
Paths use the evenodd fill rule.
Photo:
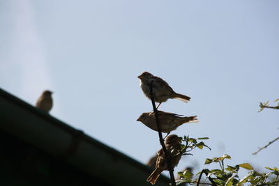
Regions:
<instances>
[{"instance_id":1,"label":"lowest brown sparrow on the upright stem, tail pointing down","mask_svg":"<svg viewBox=\"0 0 279 186\"><path fill-rule=\"evenodd\" d=\"M170 166L172 166L172 168L179 164L179 160L181 159L181 139L182 138L178 137L176 134L172 134L169 135L165 140L165 147L170 155ZM156 183L156 180L159 178L160 173L165 170L168 170L167 158L165 157L165 153L162 148L157 153L156 169L151 173L146 181L154 185Z\"/></svg>"}]
</instances>

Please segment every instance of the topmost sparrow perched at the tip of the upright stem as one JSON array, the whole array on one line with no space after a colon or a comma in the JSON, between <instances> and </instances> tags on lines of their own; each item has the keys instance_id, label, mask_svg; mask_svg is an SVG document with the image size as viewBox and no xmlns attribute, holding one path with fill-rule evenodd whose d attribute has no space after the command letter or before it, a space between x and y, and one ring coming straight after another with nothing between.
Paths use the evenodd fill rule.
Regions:
<instances>
[{"instance_id":1,"label":"topmost sparrow perched at the tip of the upright stem","mask_svg":"<svg viewBox=\"0 0 279 186\"><path fill-rule=\"evenodd\" d=\"M176 98L183 102L188 102L190 100L189 96L174 92L167 82L160 77L151 75L149 72L143 72L138 78L140 79L140 87L149 100L151 100L150 85L151 82L153 82L153 97L154 101L159 103L158 107L162 102L166 102L168 99Z\"/></svg>"}]
</instances>

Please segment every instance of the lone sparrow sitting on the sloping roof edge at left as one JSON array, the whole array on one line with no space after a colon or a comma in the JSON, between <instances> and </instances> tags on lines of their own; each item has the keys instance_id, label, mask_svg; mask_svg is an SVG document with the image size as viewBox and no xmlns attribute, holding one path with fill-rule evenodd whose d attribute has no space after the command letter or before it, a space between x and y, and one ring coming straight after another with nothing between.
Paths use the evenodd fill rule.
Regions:
<instances>
[{"instance_id":1,"label":"lone sparrow sitting on the sloping roof edge at left","mask_svg":"<svg viewBox=\"0 0 279 186\"><path fill-rule=\"evenodd\" d=\"M40 98L38 98L36 102L36 107L45 112L50 112L52 105L52 91L43 91L42 95L40 95Z\"/></svg>"}]
</instances>

